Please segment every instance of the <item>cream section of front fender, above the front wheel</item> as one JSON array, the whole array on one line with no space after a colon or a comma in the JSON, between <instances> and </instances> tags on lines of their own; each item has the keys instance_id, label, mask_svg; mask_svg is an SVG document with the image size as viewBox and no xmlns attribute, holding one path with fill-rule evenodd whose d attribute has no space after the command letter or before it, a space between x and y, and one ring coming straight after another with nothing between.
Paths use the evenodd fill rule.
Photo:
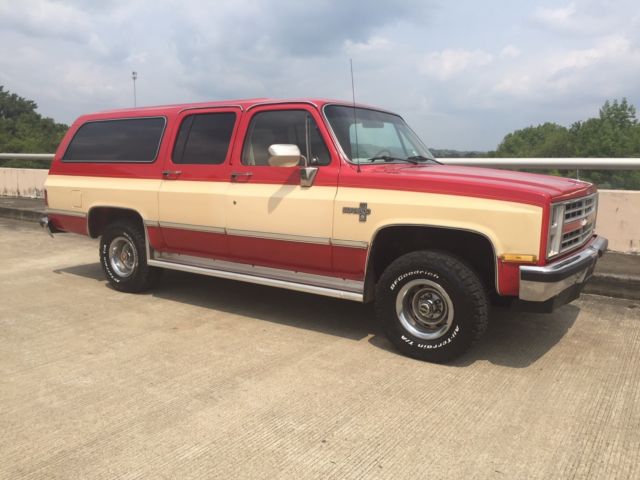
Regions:
<instances>
[{"instance_id":1,"label":"cream section of front fender, above the front wheel","mask_svg":"<svg viewBox=\"0 0 640 480\"><path fill-rule=\"evenodd\" d=\"M358 215L342 213L343 207L371 209L366 222ZM486 235L496 254L538 255L542 208L482 198L401 192L364 188L339 188L335 205L333 237L370 241L387 225L435 225L472 230Z\"/></svg>"}]
</instances>

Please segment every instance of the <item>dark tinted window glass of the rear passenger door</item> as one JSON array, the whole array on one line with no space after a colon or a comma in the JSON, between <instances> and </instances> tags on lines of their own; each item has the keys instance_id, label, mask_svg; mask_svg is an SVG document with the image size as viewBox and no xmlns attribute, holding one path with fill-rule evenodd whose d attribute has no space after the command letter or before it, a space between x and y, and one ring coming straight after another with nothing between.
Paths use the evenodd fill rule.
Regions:
<instances>
[{"instance_id":1,"label":"dark tinted window glass of the rear passenger door","mask_svg":"<svg viewBox=\"0 0 640 480\"><path fill-rule=\"evenodd\" d=\"M186 117L173 149L173 163L223 163L235 122L236 114L231 112Z\"/></svg>"}]
</instances>

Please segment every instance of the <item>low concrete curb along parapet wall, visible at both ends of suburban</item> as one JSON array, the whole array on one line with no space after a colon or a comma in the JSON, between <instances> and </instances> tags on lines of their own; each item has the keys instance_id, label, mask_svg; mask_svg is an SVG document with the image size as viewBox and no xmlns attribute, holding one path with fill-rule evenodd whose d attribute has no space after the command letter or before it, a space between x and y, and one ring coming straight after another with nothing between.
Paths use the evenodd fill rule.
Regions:
<instances>
[{"instance_id":1,"label":"low concrete curb along parapet wall, visible at both ends of suburban","mask_svg":"<svg viewBox=\"0 0 640 480\"><path fill-rule=\"evenodd\" d=\"M37 223L44 214L44 208L40 207L40 205L32 207L26 206L24 208L0 206L0 217L25 222ZM615 273L616 269L619 270L619 268L615 268L615 265L613 265L614 271L598 271L602 265L603 262L598 265L595 274L585 286L584 293L625 298L628 300L640 300L640 274L637 276L620 275L619 273Z\"/></svg>"}]
</instances>

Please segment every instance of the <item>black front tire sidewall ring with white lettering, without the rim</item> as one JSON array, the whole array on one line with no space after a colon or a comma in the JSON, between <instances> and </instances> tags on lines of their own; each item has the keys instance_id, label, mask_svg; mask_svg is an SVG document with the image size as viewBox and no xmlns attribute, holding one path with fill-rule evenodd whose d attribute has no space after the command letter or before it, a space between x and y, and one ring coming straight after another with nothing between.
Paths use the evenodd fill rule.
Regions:
<instances>
[{"instance_id":1,"label":"black front tire sidewall ring with white lettering, without the rim","mask_svg":"<svg viewBox=\"0 0 640 480\"><path fill-rule=\"evenodd\" d=\"M437 339L426 340L412 335L398 319L398 292L413 280L432 281L442 287L451 299L454 311L451 327ZM447 269L424 261L413 263L411 267L392 269L385 273L377 298L380 302L378 314L387 336L403 353L411 357L444 361L464 352L473 342L473 303L459 279Z\"/></svg>"}]
</instances>

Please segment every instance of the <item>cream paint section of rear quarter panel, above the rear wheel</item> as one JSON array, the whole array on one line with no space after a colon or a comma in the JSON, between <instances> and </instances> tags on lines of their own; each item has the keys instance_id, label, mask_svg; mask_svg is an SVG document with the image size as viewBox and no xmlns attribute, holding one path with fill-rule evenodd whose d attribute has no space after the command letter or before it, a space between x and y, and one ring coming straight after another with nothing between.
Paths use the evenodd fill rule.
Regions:
<instances>
[{"instance_id":1,"label":"cream paint section of rear quarter panel, above the rear wheel","mask_svg":"<svg viewBox=\"0 0 640 480\"><path fill-rule=\"evenodd\" d=\"M49 208L87 213L92 207L136 210L145 220L158 219L161 180L49 175L45 182ZM82 198L77 205L78 193Z\"/></svg>"}]
</instances>

